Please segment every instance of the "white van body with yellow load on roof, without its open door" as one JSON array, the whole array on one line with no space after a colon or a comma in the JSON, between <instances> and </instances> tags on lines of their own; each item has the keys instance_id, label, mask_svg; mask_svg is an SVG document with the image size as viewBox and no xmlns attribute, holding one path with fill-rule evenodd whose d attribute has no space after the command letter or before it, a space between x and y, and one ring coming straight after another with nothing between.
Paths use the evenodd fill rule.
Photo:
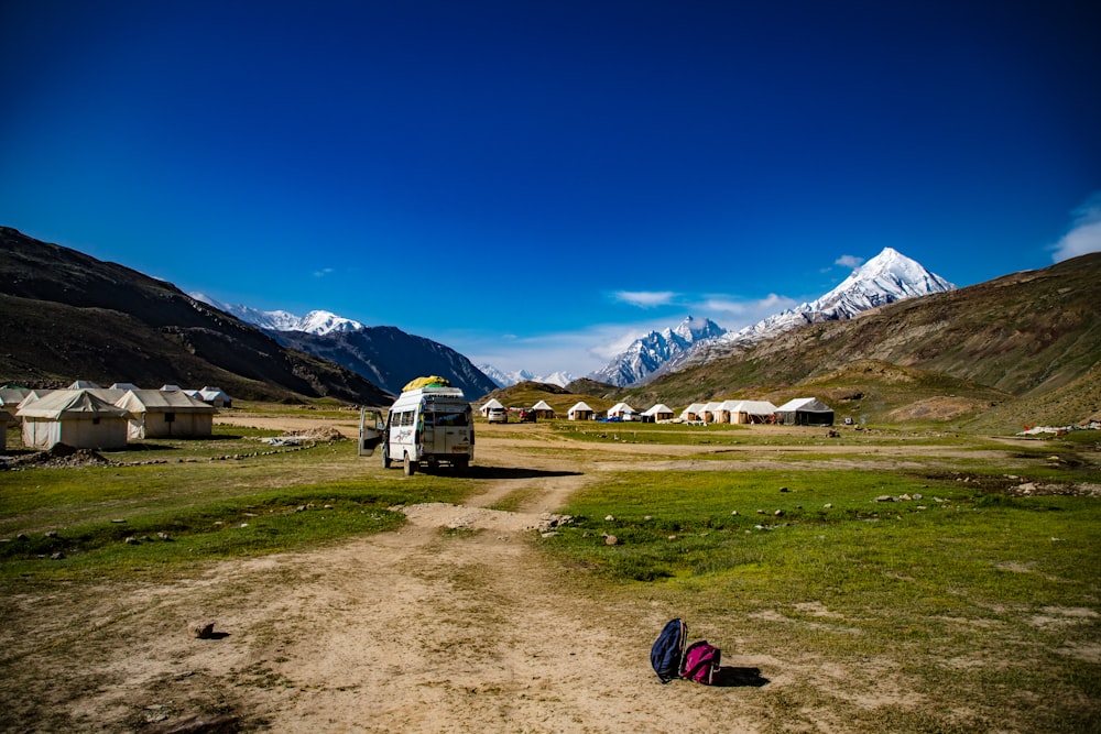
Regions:
<instances>
[{"instance_id":1,"label":"white van body with yellow load on roof, without its open door","mask_svg":"<svg viewBox=\"0 0 1101 734\"><path fill-rule=\"evenodd\" d=\"M458 387L418 387L402 393L390 408L382 434L382 467L401 461L405 474L423 463L466 469L475 458L475 421Z\"/></svg>"}]
</instances>

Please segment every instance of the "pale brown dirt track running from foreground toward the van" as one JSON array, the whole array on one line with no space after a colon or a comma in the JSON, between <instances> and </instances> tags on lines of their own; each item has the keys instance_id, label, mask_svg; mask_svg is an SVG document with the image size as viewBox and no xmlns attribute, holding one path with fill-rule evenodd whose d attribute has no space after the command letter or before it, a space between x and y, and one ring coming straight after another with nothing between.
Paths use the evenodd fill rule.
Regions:
<instances>
[{"instance_id":1,"label":"pale brown dirt track running from foreground toward the van","mask_svg":"<svg viewBox=\"0 0 1101 734\"><path fill-rule=\"evenodd\" d=\"M20 618L51 607L33 635L2 635L14 664L61 658L34 676L57 711L39 731L754 731L737 702L756 689L657 682L647 656L669 610L570 595L527 545L591 470L494 443L480 463L532 475L462 506L408 507L396 533L90 602L7 600ZM521 512L486 508L517 490ZM197 639L197 622L218 634Z\"/></svg>"}]
</instances>

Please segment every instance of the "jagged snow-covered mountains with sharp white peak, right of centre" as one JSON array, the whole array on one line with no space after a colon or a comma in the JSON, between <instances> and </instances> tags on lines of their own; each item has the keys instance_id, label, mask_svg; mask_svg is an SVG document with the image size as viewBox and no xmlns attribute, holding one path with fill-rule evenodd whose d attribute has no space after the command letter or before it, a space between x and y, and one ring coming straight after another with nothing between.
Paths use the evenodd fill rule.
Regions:
<instances>
[{"instance_id":1,"label":"jagged snow-covered mountains with sharp white peak, right of centre","mask_svg":"<svg viewBox=\"0 0 1101 734\"><path fill-rule=\"evenodd\" d=\"M709 361L737 347L748 347L806 324L850 319L896 300L953 289L953 284L927 271L918 262L897 250L884 248L816 300L774 314L740 331L727 331L705 319L705 327L710 325L718 332L709 333L708 328L696 332L689 316L672 332L652 331L635 341L591 376L620 387L642 384L686 364ZM693 338L686 338L686 330ZM674 342L675 347L669 346L671 333L683 338Z\"/></svg>"}]
</instances>

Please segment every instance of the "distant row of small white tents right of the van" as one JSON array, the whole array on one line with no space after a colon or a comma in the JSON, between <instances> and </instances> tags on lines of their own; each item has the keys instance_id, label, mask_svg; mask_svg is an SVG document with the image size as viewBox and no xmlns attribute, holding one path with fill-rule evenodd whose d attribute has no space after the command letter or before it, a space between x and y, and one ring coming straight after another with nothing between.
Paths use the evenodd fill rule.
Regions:
<instances>
[{"instance_id":1,"label":"distant row of small white tents right of the van","mask_svg":"<svg viewBox=\"0 0 1101 734\"><path fill-rule=\"evenodd\" d=\"M479 408L482 416L490 408L503 408L497 398L491 398ZM531 408L537 418L554 418L555 412L546 401L539 401ZM588 403L579 401L566 412L567 420L640 420L643 423L688 423L688 424L781 424L787 426L832 426L833 409L816 397L797 397L776 407L768 401L722 401L693 403L677 415L673 408L658 403L646 410L636 410L626 403L617 403L604 415L593 410Z\"/></svg>"}]
</instances>

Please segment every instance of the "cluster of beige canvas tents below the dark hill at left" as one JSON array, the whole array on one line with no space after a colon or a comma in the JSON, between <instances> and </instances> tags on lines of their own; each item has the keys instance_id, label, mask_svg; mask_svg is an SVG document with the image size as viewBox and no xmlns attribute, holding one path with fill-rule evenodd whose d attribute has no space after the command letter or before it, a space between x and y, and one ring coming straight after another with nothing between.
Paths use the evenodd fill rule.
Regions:
<instances>
[{"instance_id":1,"label":"cluster of beige canvas tents below the dark hill at left","mask_svg":"<svg viewBox=\"0 0 1101 734\"><path fill-rule=\"evenodd\" d=\"M121 449L144 438L204 438L218 407L232 404L217 387L185 391L176 385L142 390L116 383L74 383L64 390L0 388L0 424L22 424L25 448ZM204 393L206 397L204 397ZM13 413L11 409L14 409ZM0 450L7 449L6 430Z\"/></svg>"}]
</instances>

